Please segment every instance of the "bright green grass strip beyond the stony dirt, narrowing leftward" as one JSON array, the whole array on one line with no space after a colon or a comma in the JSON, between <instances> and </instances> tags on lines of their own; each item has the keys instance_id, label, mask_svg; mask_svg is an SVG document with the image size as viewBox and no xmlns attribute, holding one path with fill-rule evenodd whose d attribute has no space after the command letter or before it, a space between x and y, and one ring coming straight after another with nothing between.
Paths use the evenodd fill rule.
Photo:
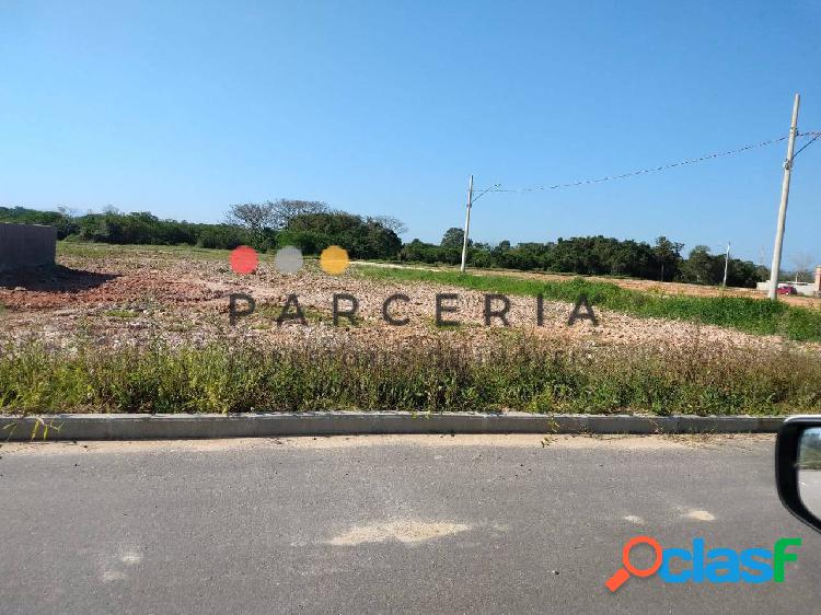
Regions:
<instances>
[{"instance_id":1,"label":"bright green grass strip beyond the stony dirt, narrowing leftward","mask_svg":"<svg viewBox=\"0 0 821 615\"><path fill-rule=\"evenodd\" d=\"M639 317L671 318L731 327L758 335L780 335L797 341L821 341L821 310L787 305L747 297L691 297L624 289L614 283L574 278L539 281L511 276L475 276L458 271L430 271L358 267L371 279L435 282L502 294L543 294L553 301L575 302L586 294L591 304Z\"/></svg>"}]
</instances>

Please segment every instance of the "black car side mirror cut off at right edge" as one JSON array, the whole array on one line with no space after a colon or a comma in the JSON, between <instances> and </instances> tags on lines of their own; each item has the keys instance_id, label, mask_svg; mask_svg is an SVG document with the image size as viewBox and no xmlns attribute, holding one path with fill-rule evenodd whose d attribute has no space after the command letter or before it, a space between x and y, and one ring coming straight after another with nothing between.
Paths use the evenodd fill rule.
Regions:
<instances>
[{"instance_id":1,"label":"black car side mirror cut off at right edge","mask_svg":"<svg viewBox=\"0 0 821 615\"><path fill-rule=\"evenodd\" d=\"M821 532L821 416L784 421L775 441L775 483L787 510Z\"/></svg>"}]
</instances>

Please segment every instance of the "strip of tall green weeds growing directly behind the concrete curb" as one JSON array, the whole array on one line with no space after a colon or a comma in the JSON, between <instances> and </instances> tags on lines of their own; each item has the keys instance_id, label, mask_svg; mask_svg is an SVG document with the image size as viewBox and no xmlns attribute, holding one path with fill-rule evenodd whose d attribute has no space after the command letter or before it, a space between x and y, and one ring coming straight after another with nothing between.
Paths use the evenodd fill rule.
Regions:
<instances>
[{"instance_id":1,"label":"strip of tall green weeds growing directly behind the concrete curb","mask_svg":"<svg viewBox=\"0 0 821 615\"><path fill-rule=\"evenodd\" d=\"M529 339L492 350L433 344L276 348L210 344L63 349L8 345L0 411L498 410L821 413L817 357L709 348L590 353Z\"/></svg>"}]
</instances>

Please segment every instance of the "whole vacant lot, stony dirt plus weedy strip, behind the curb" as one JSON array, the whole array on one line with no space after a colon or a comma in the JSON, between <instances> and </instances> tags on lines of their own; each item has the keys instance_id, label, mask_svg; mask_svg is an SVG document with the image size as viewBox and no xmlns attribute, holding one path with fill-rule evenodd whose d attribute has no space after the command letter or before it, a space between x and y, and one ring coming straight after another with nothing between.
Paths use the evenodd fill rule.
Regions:
<instances>
[{"instance_id":1,"label":"whole vacant lot, stony dirt plus weedy strip, behind the curb","mask_svg":"<svg viewBox=\"0 0 821 615\"><path fill-rule=\"evenodd\" d=\"M505 328L483 326L484 292L444 281L296 276L269 257L236 276L227 253L61 246L55 280L0 288L0 407L5 413L309 409L624 410L652 414L820 411L819 345L731 328L512 295ZM78 272L79 271L79 272ZM257 313L229 325L228 295ZM333 326L335 292L359 321ZM407 326L383 300L404 292ZM438 292L459 293L459 327L433 324ZM296 293L308 324L276 325Z\"/></svg>"}]
</instances>

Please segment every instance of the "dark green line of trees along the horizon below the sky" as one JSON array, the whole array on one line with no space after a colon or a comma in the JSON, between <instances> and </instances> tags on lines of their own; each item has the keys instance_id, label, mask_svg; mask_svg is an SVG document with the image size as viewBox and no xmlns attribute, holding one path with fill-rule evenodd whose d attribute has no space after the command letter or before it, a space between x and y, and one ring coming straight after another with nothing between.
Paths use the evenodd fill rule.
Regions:
<instances>
[{"instance_id":1,"label":"dark green line of trees along the horizon below the sky","mask_svg":"<svg viewBox=\"0 0 821 615\"><path fill-rule=\"evenodd\" d=\"M406 228L395 218L362 217L333 210L324 202L293 199L233 205L226 221L217 224L164 220L146 211L123 213L113 208L76 216L62 208L38 211L22 207L0 207L0 222L53 225L58 239L68 241L221 250L251 245L264 252L294 245L305 255L340 245L352 258L431 265L458 265L464 237L461 229L451 228L438 244L418 239L403 244L400 235ZM478 268L721 283L724 254L714 255L707 246L697 245L685 257L683 248L684 244L664 236L650 244L595 235L545 243L469 242L467 256L469 263ZM737 258L729 262L729 286L754 287L767 277L765 267Z\"/></svg>"}]
</instances>

